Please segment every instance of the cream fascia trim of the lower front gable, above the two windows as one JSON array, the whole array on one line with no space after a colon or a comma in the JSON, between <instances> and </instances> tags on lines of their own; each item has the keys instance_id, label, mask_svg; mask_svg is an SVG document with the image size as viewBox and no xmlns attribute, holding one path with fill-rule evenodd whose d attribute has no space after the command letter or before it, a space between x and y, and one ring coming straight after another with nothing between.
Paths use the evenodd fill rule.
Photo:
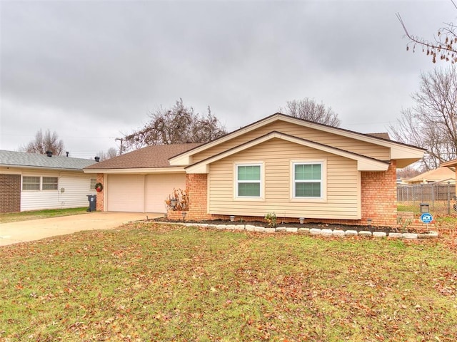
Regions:
<instances>
[{"instance_id":1,"label":"cream fascia trim of the lower front gable, above the two windows","mask_svg":"<svg viewBox=\"0 0 457 342\"><path fill-rule=\"evenodd\" d=\"M215 155L214 157L210 157L206 160L202 160L201 162L198 162L195 165L191 165L189 167L186 167L186 172L187 173L209 173L209 165L212 162L216 162L217 160L221 160L225 157L229 157L230 155L233 155L237 152L241 152L243 150L246 150L250 147L253 147L255 145L261 144L262 142L266 142L267 140L271 140L273 138L278 138L282 140L287 140L289 142L296 143L298 145L303 145L306 147L311 147L316 150L321 150L323 152L328 152L331 153L332 155L340 155L341 157L346 157L351 160L356 160L357 161L357 167L358 171L386 171L388 169L388 162L383 162L381 160L373 160L368 157L363 157L362 155L356 155L351 152L346 152L343 150L338 150L334 147L331 146L326 146L326 145L321 145L316 142L311 142L309 140L303 140L301 138L295 138L290 135L283 135L278 132L272 132L268 133L267 135L264 135L261 138L258 138L256 140L253 140L251 142L248 142L246 144L243 144L241 146L232 148L231 150L228 150L226 152L222 152L219 155Z\"/></svg>"}]
</instances>

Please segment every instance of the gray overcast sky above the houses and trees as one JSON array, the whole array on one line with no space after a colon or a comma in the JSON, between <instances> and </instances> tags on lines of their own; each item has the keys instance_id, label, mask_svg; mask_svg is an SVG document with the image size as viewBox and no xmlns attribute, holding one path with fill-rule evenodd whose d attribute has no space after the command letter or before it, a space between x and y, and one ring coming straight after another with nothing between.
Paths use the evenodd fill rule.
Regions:
<instances>
[{"instance_id":1,"label":"gray overcast sky above the houses and trees","mask_svg":"<svg viewBox=\"0 0 457 342\"><path fill-rule=\"evenodd\" d=\"M406 51L397 12L426 38L457 17L448 0L0 0L0 149L41 128L93 158L179 98L229 131L307 97L386 132L446 67Z\"/></svg>"}]
</instances>

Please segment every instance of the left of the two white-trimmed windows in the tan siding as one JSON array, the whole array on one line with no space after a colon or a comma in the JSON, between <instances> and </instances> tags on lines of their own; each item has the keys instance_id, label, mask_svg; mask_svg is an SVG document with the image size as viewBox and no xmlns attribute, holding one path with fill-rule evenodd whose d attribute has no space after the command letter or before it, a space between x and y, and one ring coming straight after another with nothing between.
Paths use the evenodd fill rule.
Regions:
<instances>
[{"instance_id":1,"label":"left of the two white-trimmed windows in the tan siding","mask_svg":"<svg viewBox=\"0 0 457 342\"><path fill-rule=\"evenodd\" d=\"M262 165L236 165L236 197L261 197Z\"/></svg>"}]
</instances>

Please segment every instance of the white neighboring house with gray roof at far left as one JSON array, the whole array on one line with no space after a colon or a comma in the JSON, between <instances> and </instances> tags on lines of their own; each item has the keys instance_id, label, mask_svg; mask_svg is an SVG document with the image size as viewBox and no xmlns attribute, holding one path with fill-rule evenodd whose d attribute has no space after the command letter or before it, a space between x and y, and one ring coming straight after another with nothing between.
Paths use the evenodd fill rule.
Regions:
<instances>
[{"instance_id":1,"label":"white neighboring house with gray roof at far left","mask_svg":"<svg viewBox=\"0 0 457 342\"><path fill-rule=\"evenodd\" d=\"M94 160L0 150L0 212L84 207L96 177Z\"/></svg>"}]
</instances>

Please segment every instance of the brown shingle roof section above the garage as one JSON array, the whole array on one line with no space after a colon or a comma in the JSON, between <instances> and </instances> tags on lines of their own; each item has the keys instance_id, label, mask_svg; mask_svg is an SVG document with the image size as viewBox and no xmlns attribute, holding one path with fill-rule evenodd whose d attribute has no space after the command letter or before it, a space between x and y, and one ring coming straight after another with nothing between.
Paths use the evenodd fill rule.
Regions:
<instances>
[{"instance_id":1,"label":"brown shingle roof section above the garage","mask_svg":"<svg viewBox=\"0 0 457 342\"><path fill-rule=\"evenodd\" d=\"M169 158L189 151L201 143L176 144L176 145L153 145L139 150L125 153L117 157L98 162L86 167L91 169L144 169L155 167L170 167Z\"/></svg>"}]
</instances>

